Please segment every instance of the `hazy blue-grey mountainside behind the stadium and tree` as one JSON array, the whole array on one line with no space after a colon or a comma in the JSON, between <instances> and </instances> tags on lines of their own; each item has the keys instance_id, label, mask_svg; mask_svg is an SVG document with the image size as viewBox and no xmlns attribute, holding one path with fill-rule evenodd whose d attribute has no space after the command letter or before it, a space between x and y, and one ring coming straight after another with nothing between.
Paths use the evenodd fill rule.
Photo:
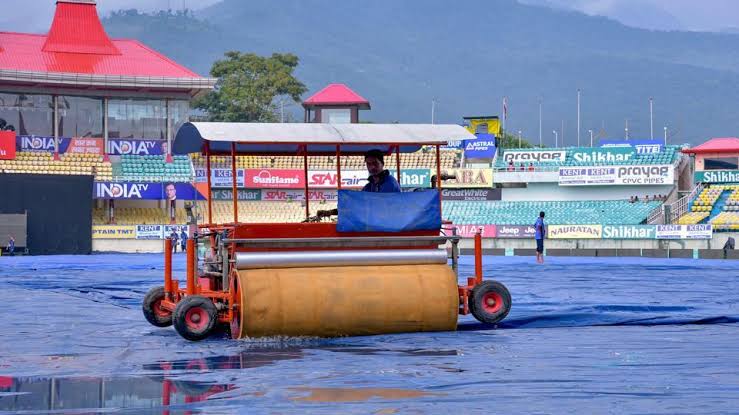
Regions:
<instances>
[{"instance_id":1,"label":"hazy blue-grey mountainside behind the stadium and tree","mask_svg":"<svg viewBox=\"0 0 739 415\"><path fill-rule=\"evenodd\" d=\"M293 52L311 91L345 82L368 98L372 121L438 122L499 114L509 129L544 141L565 123L574 144L576 90L588 129L649 136L667 125L672 143L739 134L739 36L634 29L584 14L513 0L225 0L191 15L117 13L114 37L137 38L206 74L226 50ZM296 106L293 111L299 111Z\"/></svg>"}]
</instances>

